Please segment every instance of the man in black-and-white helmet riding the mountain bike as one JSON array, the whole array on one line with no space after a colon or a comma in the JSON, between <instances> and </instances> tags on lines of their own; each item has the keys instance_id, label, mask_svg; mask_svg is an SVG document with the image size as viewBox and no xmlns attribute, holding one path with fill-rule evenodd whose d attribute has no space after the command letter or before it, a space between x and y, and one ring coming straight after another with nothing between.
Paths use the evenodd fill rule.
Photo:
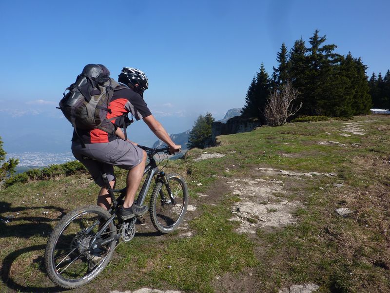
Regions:
<instances>
[{"instance_id":1,"label":"man in black-and-white helmet riding the mountain bike","mask_svg":"<svg viewBox=\"0 0 390 293\"><path fill-rule=\"evenodd\" d=\"M104 187L101 171L107 174L112 188L115 186L114 165L129 170L126 180L126 195L119 216L123 220L131 219L144 214L147 206L138 206L134 198L142 179L146 164L146 152L137 144L125 140L125 134L121 128L126 124L123 115L131 113L136 120L142 119L153 133L169 146L170 153L181 150L168 135L164 127L156 120L143 100L143 93L148 88L148 78L142 71L124 67L119 74L118 82L126 84L114 91L108 105L106 120L102 124L110 133L101 129L84 130L77 128L72 137L72 152L91 173L95 182L101 187L98 194L98 206L109 209L111 198ZM80 141L82 140L82 141ZM85 147L83 147L85 146ZM102 169L101 169L102 168Z\"/></svg>"}]
</instances>

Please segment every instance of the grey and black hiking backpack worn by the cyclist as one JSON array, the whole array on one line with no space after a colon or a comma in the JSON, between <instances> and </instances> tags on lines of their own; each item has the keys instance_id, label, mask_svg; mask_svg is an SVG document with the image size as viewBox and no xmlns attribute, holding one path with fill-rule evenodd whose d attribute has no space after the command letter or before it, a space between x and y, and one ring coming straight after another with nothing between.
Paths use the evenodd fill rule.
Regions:
<instances>
[{"instance_id":1,"label":"grey and black hiking backpack worn by the cyclist","mask_svg":"<svg viewBox=\"0 0 390 293\"><path fill-rule=\"evenodd\" d=\"M101 129L107 133L112 133L114 129L113 124L109 128L102 126L102 122L106 119L108 112L108 104L114 94L115 90L127 88L124 84L117 83L110 78L110 71L102 64L88 64L84 67L80 75L78 75L76 82L65 89L64 97L59 101L59 109L65 115L66 119L75 128L92 130ZM118 117L111 118L114 120ZM126 117L120 116L124 129L128 122ZM127 119L127 121L126 121ZM112 127L111 127L112 126ZM85 147L84 142L78 135L81 144ZM125 131L125 139L127 135Z\"/></svg>"}]
</instances>

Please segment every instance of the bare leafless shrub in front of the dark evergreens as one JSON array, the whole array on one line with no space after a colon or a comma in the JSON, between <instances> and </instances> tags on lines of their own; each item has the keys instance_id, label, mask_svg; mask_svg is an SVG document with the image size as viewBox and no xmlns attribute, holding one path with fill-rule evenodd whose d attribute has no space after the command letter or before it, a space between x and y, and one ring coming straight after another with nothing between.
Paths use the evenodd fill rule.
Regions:
<instances>
[{"instance_id":1,"label":"bare leafless shrub in front of the dark evergreens","mask_svg":"<svg viewBox=\"0 0 390 293\"><path fill-rule=\"evenodd\" d=\"M269 126L281 126L287 119L302 107L302 103L295 107L292 102L298 97L298 90L290 82L283 84L280 90L275 89L268 98L264 109L264 116Z\"/></svg>"}]
</instances>

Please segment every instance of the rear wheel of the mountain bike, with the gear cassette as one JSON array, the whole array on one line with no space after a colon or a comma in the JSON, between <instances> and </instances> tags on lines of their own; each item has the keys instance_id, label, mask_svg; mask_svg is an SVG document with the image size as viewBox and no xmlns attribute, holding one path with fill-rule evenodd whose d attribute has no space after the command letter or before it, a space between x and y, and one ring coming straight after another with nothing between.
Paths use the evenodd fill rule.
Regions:
<instances>
[{"instance_id":1,"label":"rear wheel of the mountain bike, with the gear cassette","mask_svg":"<svg viewBox=\"0 0 390 293\"><path fill-rule=\"evenodd\" d=\"M93 245L92 239L111 214L98 207L78 208L64 216L53 230L46 245L45 266L50 279L62 288L78 288L107 266L116 241ZM115 233L114 223L97 240Z\"/></svg>"}]
</instances>

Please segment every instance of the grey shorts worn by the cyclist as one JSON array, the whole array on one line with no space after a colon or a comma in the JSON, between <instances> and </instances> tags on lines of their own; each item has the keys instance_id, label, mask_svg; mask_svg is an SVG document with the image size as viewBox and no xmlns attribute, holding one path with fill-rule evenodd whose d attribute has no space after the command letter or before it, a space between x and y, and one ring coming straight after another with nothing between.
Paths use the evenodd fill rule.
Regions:
<instances>
[{"instance_id":1,"label":"grey shorts worn by the cyclist","mask_svg":"<svg viewBox=\"0 0 390 293\"><path fill-rule=\"evenodd\" d=\"M113 181L113 166L130 170L141 163L143 158L141 148L120 138L108 143L85 144L85 148L79 142L72 142L72 153L100 187L104 186L101 172L107 174L109 181Z\"/></svg>"}]
</instances>

